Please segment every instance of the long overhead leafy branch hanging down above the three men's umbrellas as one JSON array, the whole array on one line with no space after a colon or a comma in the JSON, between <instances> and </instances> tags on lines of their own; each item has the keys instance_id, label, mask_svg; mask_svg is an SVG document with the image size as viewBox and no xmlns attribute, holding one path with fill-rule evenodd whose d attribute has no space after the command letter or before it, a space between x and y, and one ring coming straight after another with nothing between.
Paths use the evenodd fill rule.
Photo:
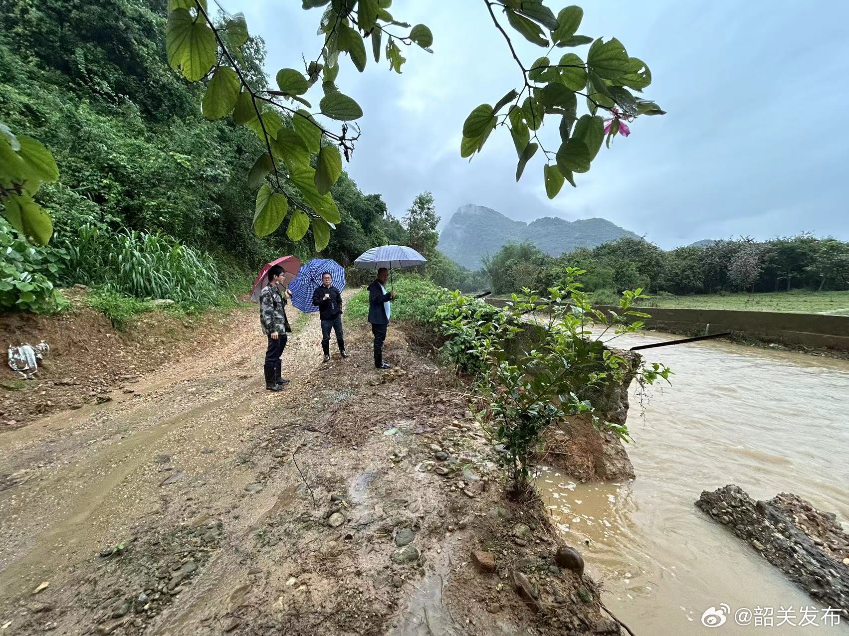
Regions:
<instances>
[{"instance_id":1,"label":"long overhead leafy branch hanging down above the three men's umbrellas","mask_svg":"<svg viewBox=\"0 0 849 636\"><path fill-rule=\"evenodd\" d=\"M304 0L305 9L323 8L321 50L316 58L305 58L302 69L278 70L276 90L258 90L240 66L240 48L250 37L243 15L226 16L218 24L205 0L168 3L168 62L189 81L206 80L205 117L232 116L266 146L248 178L251 188L259 188L254 213L259 236L274 232L288 217L291 239L300 240L312 228L317 250L329 243L330 228L341 220L330 190L342 173L342 156L351 159L360 136L351 122L363 116L357 101L336 84L340 58L347 56L362 72L368 62L365 40L372 38L379 61L385 36L386 59L400 73L405 59L399 44L430 52L433 43L428 27L395 20L390 6L391 0ZM320 98L307 97L313 88L321 91ZM334 128L327 120L341 123Z\"/></svg>"}]
</instances>

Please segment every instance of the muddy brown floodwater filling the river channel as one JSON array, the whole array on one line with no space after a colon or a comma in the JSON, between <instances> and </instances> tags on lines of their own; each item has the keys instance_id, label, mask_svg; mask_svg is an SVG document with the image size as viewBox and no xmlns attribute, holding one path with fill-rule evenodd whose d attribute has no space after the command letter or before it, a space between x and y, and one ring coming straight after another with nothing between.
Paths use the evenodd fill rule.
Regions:
<instances>
[{"instance_id":1,"label":"muddy brown floodwater filling the river channel","mask_svg":"<svg viewBox=\"0 0 849 636\"><path fill-rule=\"evenodd\" d=\"M674 338L628 335L611 346ZM642 353L675 376L651 390L642 418L632 388L637 479L580 484L543 468L537 480L565 540L604 578L606 605L638 634L849 633L694 506L702 490L736 483L756 499L799 494L849 529L849 361L724 342ZM711 606L727 614L718 628L701 622ZM743 612L739 624L745 609L751 619ZM800 626L814 610L816 626Z\"/></svg>"}]
</instances>

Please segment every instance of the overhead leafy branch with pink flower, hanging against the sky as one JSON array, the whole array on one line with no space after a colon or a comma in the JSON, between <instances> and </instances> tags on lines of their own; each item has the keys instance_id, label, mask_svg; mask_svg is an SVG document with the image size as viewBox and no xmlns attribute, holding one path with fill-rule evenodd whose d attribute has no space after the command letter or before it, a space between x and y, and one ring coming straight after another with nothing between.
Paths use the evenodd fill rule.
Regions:
<instances>
[{"instance_id":1,"label":"overhead leafy branch with pink flower, hanging against the sky","mask_svg":"<svg viewBox=\"0 0 849 636\"><path fill-rule=\"evenodd\" d=\"M615 37L605 42L577 35L582 8L566 7L555 17L543 0L483 1L519 66L522 86L520 90L511 89L494 107L484 103L472 110L463 126L461 156L471 158L481 151L493 130L507 126L519 158L516 181L537 150L542 150L545 190L548 198L554 198L564 181L575 187L574 173L589 170L605 136L610 148L617 134L630 134L627 123L639 115L665 114L655 102L632 92L642 92L651 83L651 71L643 60L630 57ZM532 64L524 63L504 28L505 21L528 42L547 48L547 53ZM565 53L559 60L551 58L555 48L588 44L586 59L576 53ZM587 114L579 116L578 97L586 103ZM509 109L502 112L508 104ZM553 117L558 145L556 150L549 150L539 131Z\"/></svg>"}]
</instances>

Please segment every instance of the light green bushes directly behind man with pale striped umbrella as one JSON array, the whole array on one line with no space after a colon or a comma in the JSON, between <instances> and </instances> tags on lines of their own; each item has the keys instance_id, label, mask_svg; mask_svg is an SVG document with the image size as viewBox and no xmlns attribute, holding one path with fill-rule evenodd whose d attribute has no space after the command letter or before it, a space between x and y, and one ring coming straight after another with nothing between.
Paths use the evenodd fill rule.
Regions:
<instances>
[{"instance_id":1,"label":"light green bushes directly behind man with pale striped umbrella","mask_svg":"<svg viewBox=\"0 0 849 636\"><path fill-rule=\"evenodd\" d=\"M394 289L395 300L392 301L393 321L419 321L433 324L438 320L437 308L450 298L449 292L443 287L437 287L433 282L417 275L395 276L394 286L387 283L386 289ZM348 320L368 318L368 289L361 288L345 309Z\"/></svg>"}]
</instances>

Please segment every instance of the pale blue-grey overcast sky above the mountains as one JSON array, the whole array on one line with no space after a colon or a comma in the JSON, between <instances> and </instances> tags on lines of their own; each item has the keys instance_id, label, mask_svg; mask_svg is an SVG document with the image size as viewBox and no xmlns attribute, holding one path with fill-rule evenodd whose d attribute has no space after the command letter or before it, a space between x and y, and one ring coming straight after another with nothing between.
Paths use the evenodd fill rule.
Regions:
<instances>
[{"instance_id":1,"label":"pale blue-grey overcast sky above the mountains","mask_svg":"<svg viewBox=\"0 0 849 636\"><path fill-rule=\"evenodd\" d=\"M321 9L304 11L299 0L221 2L244 12L251 33L265 38L272 77L283 67L302 69L301 53L316 58ZM557 14L569 3L547 4ZM503 128L471 163L460 158L469 111L521 82L482 0L396 0L396 20L423 22L434 34L433 55L402 47L402 75L390 72L383 56L374 64L370 42L365 73L341 59L337 84L365 112L346 170L399 216L430 190L443 219L467 203L517 220L600 216L662 248L801 231L849 240L849 2L583 6L579 33L616 36L649 64L653 83L644 94L667 114L638 119L631 137L602 148L592 170L576 175L577 189L566 184L549 201L541 154L516 183L513 143ZM526 64L543 54L505 28ZM570 50L585 57L587 47L556 49ZM317 105L320 86L306 97ZM547 147L556 149L556 126L545 128Z\"/></svg>"}]
</instances>

